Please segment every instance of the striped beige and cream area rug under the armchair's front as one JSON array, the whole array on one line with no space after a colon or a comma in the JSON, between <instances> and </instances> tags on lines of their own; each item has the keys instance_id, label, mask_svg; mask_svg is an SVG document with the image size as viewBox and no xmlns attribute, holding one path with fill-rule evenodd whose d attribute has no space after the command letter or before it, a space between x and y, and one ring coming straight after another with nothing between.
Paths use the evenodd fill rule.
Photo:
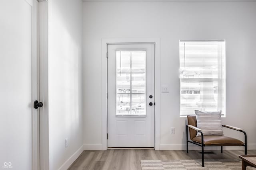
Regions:
<instances>
[{"instance_id":1,"label":"striped beige and cream area rug under the armchair's front","mask_svg":"<svg viewBox=\"0 0 256 170\"><path fill-rule=\"evenodd\" d=\"M142 170L242 170L242 162L238 159L219 159L219 160L141 160ZM248 170L256 170L247 166Z\"/></svg>"}]
</instances>

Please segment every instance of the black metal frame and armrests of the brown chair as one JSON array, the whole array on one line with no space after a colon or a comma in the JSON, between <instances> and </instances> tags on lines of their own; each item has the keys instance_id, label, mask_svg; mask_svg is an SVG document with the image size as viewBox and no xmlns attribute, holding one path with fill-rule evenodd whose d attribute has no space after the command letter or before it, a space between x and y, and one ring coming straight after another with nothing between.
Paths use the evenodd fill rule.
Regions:
<instances>
[{"instance_id":1,"label":"black metal frame and armrests of the brown chair","mask_svg":"<svg viewBox=\"0 0 256 170\"><path fill-rule=\"evenodd\" d=\"M222 125L222 127L227 127L227 126ZM227 127L227 128L232 129L230 127ZM195 130L195 129L193 129L193 130ZM244 145L242 145L242 146L244 146L244 154L247 154L247 135L246 135L245 131L243 131L243 130L236 130L236 129L233 129L233 130L240 131L240 132L244 133ZM207 145L204 144L204 135L203 135L202 131L198 131L198 132L201 133L201 143L197 143L197 142L194 142L194 141L189 141L188 140L188 125L186 125L187 153L188 153L188 143L193 143L195 145L198 145L198 146L202 147L202 167L204 167L204 147L207 147ZM212 146L214 146L214 145L212 145ZM211 147L211 145L209 145L209 147ZM220 147L221 147L221 153L222 153L223 152L223 148L222 148L222 146L220 146Z\"/></svg>"}]
</instances>

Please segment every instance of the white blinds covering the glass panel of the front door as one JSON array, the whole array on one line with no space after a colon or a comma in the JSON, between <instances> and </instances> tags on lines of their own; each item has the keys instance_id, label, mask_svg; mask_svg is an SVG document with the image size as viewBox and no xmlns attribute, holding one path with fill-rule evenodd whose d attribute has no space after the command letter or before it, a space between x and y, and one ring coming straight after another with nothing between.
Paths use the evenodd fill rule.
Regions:
<instances>
[{"instance_id":1,"label":"white blinds covering the glass panel of the front door","mask_svg":"<svg viewBox=\"0 0 256 170\"><path fill-rule=\"evenodd\" d=\"M146 115L146 51L116 51L116 115Z\"/></svg>"}]
</instances>

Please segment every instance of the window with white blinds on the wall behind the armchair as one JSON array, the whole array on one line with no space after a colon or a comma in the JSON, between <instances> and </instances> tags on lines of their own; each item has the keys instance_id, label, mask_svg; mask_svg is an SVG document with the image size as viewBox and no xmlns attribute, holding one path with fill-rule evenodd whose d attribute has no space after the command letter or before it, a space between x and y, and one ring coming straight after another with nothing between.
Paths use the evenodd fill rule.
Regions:
<instances>
[{"instance_id":1,"label":"window with white blinds on the wall behind the armchair","mask_svg":"<svg viewBox=\"0 0 256 170\"><path fill-rule=\"evenodd\" d=\"M180 41L180 116L226 113L225 41Z\"/></svg>"}]
</instances>

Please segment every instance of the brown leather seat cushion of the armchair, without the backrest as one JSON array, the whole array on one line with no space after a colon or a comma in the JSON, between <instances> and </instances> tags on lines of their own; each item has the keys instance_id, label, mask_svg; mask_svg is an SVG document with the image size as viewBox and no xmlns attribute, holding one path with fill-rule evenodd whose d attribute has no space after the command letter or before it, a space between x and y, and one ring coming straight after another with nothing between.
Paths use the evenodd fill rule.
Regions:
<instances>
[{"instance_id":1,"label":"brown leather seat cushion of the armchair, without the backrest","mask_svg":"<svg viewBox=\"0 0 256 170\"><path fill-rule=\"evenodd\" d=\"M197 143L201 142L201 137L194 137L192 141ZM242 146L244 143L238 139L232 137L220 136L220 135L204 135L204 145L210 146Z\"/></svg>"}]
</instances>

